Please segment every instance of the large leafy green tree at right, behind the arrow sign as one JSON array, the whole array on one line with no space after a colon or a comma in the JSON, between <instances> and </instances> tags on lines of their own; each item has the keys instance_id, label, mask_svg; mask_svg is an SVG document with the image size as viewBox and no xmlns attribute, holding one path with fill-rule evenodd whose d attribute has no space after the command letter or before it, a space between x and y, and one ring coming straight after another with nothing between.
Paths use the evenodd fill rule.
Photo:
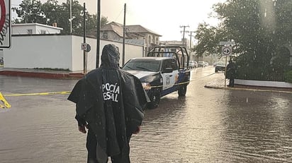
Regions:
<instances>
[{"instance_id":1,"label":"large leafy green tree at right, behind the arrow sign","mask_svg":"<svg viewBox=\"0 0 292 163\"><path fill-rule=\"evenodd\" d=\"M292 1L227 0L213 7L222 21L218 28L199 25L197 52L210 51L215 42L235 40L237 78L283 80L291 44ZM215 34L214 34L215 33Z\"/></svg>"}]
</instances>

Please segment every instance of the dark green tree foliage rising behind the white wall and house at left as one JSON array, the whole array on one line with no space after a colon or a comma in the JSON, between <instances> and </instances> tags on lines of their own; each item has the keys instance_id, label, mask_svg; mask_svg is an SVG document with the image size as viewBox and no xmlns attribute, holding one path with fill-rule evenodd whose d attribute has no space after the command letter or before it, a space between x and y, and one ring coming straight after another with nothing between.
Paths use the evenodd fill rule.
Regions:
<instances>
[{"instance_id":1,"label":"dark green tree foliage rising behind the white wall and house at left","mask_svg":"<svg viewBox=\"0 0 292 163\"><path fill-rule=\"evenodd\" d=\"M83 9L78 1L72 1L72 34L83 35ZM40 1L23 0L20 8L13 8L18 14L18 19L13 23L41 23L63 28L62 34L70 34L70 0L59 4L57 0L47 0L44 4ZM101 25L108 23L106 17L101 17ZM96 37L97 16L86 12L86 35Z\"/></svg>"}]
</instances>

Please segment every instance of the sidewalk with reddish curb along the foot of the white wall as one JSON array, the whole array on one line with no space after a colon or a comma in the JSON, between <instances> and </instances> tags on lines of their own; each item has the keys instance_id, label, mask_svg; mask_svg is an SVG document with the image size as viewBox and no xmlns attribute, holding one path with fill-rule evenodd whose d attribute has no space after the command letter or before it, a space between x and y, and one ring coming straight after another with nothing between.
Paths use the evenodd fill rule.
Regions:
<instances>
[{"instance_id":1,"label":"sidewalk with reddish curb along the foot of the white wall","mask_svg":"<svg viewBox=\"0 0 292 163\"><path fill-rule=\"evenodd\" d=\"M84 76L84 73L81 71L54 71L33 68L0 68L0 75L32 78L79 79Z\"/></svg>"}]
</instances>

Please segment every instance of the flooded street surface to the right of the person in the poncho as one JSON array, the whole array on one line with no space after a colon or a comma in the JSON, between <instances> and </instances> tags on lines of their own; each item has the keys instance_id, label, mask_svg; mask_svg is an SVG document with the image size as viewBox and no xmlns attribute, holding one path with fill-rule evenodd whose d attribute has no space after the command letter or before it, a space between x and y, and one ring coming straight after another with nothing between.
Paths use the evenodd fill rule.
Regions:
<instances>
[{"instance_id":1,"label":"flooded street surface to the right of the person in the poncho","mask_svg":"<svg viewBox=\"0 0 292 163\"><path fill-rule=\"evenodd\" d=\"M223 74L193 73L186 97L172 93L145 111L134 162L289 162L291 94L208 89Z\"/></svg>"}]
</instances>

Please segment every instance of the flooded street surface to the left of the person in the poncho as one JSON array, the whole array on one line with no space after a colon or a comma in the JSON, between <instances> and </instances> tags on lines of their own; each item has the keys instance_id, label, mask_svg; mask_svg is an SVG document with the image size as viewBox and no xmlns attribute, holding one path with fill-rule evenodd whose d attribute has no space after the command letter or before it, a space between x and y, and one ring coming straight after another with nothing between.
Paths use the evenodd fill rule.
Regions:
<instances>
[{"instance_id":1,"label":"flooded street surface to the left of the person in the poncho","mask_svg":"<svg viewBox=\"0 0 292 163\"><path fill-rule=\"evenodd\" d=\"M72 90L77 80L1 76L4 95ZM68 95L6 97L0 109L0 162L86 162L86 134L79 133Z\"/></svg>"}]
</instances>

